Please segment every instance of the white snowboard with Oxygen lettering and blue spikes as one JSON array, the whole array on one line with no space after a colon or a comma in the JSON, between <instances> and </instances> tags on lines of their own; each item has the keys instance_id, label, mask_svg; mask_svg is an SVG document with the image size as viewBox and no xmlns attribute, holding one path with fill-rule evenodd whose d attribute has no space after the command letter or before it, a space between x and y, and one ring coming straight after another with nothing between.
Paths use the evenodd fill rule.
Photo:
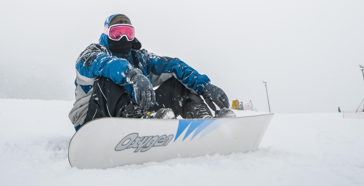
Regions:
<instances>
[{"instance_id":1,"label":"white snowboard with Oxygen lettering and blue spikes","mask_svg":"<svg viewBox=\"0 0 364 186\"><path fill-rule=\"evenodd\" d=\"M223 119L103 118L72 137L68 160L80 169L257 150L274 114Z\"/></svg>"}]
</instances>

